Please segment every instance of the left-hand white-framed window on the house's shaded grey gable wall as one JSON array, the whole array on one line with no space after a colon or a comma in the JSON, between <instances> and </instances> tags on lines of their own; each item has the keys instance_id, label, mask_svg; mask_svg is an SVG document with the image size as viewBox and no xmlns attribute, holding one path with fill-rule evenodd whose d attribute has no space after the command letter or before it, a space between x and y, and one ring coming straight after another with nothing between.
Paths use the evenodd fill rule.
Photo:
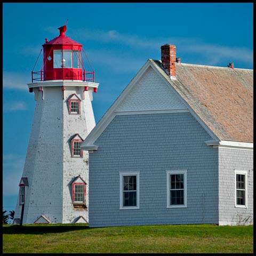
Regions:
<instances>
[{"instance_id":1,"label":"left-hand white-framed window on the house's shaded grey gable wall","mask_svg":"<svg viewBox=\"0 0 256 256\"><path fill-rule=\"evenodd\" d=\"M120 210L140 209L140 172L119 172Z\"/></svg>"}]
</instances>

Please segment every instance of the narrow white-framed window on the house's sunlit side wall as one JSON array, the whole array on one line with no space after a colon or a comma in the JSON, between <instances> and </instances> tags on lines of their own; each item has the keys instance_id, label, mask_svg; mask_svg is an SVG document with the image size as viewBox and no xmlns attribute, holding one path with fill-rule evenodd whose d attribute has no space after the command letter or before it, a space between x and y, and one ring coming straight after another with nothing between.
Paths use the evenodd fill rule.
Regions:
<instances>
[{"instance_id":1,"label":"narrow white-framed window on the house's sunlit side wall","mask_svg":"<svg viewBox=\"0 0 256 256\"><path fill-rule=\"evenodd\" d=\"M235 170L235 207L247 208L247 171Z\"/></svg>"}]
</instances>

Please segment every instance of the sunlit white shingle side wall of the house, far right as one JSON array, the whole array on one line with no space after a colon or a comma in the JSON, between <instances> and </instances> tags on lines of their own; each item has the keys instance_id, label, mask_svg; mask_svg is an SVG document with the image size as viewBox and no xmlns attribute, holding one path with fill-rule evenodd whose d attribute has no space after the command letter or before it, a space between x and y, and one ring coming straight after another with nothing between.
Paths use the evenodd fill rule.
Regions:
<instances>
[{"instance_id":1,"label":"sunlit white shingle side wall of the house, far right","mask_svg":"<svg viewBox=\"0 0 256 256\"><path fill-rule=\"evenodd\" d=\"M235 170L247 171L247 209L235 207ZM219 223L253 224L253 151L219 148Z\"/></svg>"}]
</instances>

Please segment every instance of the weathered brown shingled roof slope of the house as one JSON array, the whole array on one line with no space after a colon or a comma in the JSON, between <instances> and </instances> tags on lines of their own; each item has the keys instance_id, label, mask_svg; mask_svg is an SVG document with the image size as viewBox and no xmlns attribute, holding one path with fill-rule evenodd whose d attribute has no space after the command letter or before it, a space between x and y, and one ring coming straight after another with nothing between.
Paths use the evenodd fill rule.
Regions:
<instances>
[{"instance_id":1,"label":"weathered brown shingled roof slope of the house","mask_svg":"<svg viewBox=\"0 0 256 256\"><path fill-rule=\"evenodd\" d=\"M177 80L150 60L220 140L253 142L253 70L181 63Z\"/></svg>"}]
</instances>

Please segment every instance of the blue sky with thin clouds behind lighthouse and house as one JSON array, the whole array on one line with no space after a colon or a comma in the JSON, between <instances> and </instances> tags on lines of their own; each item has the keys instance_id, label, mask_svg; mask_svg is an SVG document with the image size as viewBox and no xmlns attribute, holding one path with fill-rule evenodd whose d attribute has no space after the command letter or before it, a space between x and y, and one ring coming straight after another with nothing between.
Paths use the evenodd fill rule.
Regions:
<instances>
[{"instance_id":1,"label":"blue sky with thin clouds behind lighthouse and house","mask_svg":"<svg viewBox=\"0 0 256 256\"><path fill-rule=\"evenodd\" d=\"M35 101L31 70L44 39L82 43L100 83L98 122L147 59L174 44L185 63L253 68L252 3L4 3L3 206L15 210ZM39 63L38 70L42 63Z\"/></svg>"}]
</instances>

